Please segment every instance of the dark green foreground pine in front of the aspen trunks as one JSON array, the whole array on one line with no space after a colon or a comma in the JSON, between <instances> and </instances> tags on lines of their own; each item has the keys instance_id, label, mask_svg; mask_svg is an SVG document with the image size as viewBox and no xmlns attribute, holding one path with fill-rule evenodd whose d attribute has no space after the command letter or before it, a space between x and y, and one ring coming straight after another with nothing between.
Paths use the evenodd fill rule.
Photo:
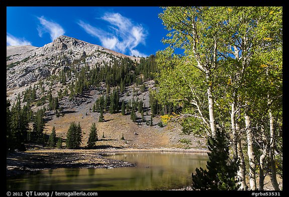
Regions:
<instances>
[{"instance_id":1,"label":"dark green foreground pine in front of the aspen trunks","mask_svg":"<svg viewBox=\"0 0 289 197\"><path fill-rule=\"evenodd\" d=\"M193 189L195 190L237 190L238 180L235 178L238 162L229 158L229 141L222 131L215 137L208 138L209 161L207 169L196 168L192 173Z\"/></svg>"}]
</instances>

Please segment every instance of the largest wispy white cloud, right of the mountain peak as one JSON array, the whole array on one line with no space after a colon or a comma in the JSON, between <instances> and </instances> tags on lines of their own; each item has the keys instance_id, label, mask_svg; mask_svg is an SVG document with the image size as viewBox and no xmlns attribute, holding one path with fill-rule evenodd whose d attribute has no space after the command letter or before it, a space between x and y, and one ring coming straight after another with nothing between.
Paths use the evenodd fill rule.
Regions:
<instances>
[{"instance_id":1,"label":"largest wispy white cloud, right of the mountain peak","mask_svg":"<svg viewBox=\"0 0 289 197\"><path fill-rule=\"evenodd\" d=\"M131 56L147 56L135 49L139 44L146 44L147 32L141 25L134 25L131 20L119 13L105 13L100 20L109 23L107 28L111 30L110 32L93 27L83 21L79 21L78 25L90 36L98 38L105 48L120 53L128 52Z\"/></svg>"}]
</instances>

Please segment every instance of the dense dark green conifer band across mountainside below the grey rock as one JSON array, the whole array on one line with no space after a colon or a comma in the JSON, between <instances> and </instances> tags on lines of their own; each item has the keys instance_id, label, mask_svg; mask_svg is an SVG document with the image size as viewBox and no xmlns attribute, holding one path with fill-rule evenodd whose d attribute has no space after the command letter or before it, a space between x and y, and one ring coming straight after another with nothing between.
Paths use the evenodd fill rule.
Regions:
<instances>
[{"instance_id":1,"label":"dense dark green conifer band across mountainside below the grey rock","mask_svg":"<svg viewBox=\"0 0 289 197\"><path fill-rule=\"evenodd\" d=\"M95 65L93 68L86 65L80 71L72 66L66 72L62 71L58 79L63 83L64 79L71 76L71 72L75 72L76 80L70 84L70 97L81 94L90 87L99 87L101 82L111 87L118 86L120 93L123 93L125 87L132 83L141 85L143 80L154 79L154 73L157 72L155 59L152 55L135 63L129 58L122 58L120 61L112 58L112 65Z\"/></svg>"}]
</instances>

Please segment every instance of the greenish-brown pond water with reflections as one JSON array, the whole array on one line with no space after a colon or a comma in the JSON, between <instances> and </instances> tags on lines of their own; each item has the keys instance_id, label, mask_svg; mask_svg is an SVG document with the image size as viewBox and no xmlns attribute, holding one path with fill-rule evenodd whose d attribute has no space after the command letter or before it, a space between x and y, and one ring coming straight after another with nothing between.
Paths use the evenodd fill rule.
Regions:
<instances>
[{"instance_id":1,"label":"greenish-brown pond water with reflections","mask_svg":"<svg viewBox=\"0 0 289 197\"><path fill-rule=\"evenodd\" d=\"M121 168L58 168L7 178L8 190L161 190L192 182L208 155L179 152L113 153L106 157L136 163Z\"/></svg>"}]
</instances>

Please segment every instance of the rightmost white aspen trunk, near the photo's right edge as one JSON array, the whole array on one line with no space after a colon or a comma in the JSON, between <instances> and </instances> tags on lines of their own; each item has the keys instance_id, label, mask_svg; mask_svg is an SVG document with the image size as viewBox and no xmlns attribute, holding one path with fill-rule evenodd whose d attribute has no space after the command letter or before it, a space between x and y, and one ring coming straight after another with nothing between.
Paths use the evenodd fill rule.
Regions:
<instances>
[{"instance_id":1,"label":"rightmost white aspen trunk, near the photo's right edge","mask_svg":"<svg viewBox=\"0 0 289 197\"><path fill-rule=\"evenodd\" d=\"M279 190L279 184L277 182L277 173L276 173L276 166L275 166L275 143L274 143L274 139L275 139L275 135L274 135L274 118L272 116L271 110L269 110L269 117L270 117L270 151L269 151L269 160L270 160L270 165L271 165L271 169L270 169L270 179L271 179L271 183L272 186L274 187L274 190Z\"/></svg>"}]
</instances>

